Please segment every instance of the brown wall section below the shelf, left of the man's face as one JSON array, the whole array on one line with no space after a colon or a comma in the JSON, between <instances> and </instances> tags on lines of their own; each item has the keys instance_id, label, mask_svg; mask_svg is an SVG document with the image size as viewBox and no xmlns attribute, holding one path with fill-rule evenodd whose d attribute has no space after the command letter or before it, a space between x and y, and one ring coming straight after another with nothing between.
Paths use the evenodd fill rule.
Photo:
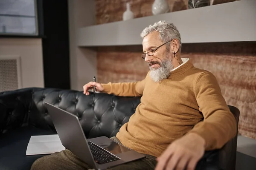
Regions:
<instances>
[{"instance_id":1,"label":"brown wall section below the shelf, left of the man's face","mask_svg":"<svg viewBox=\"0 0 256 170\"><path fill-rule=\"evenodd\" d=\"M148 64L141 58L142 45L101 47L97 53L97 76L102 83L134 82L145 78Z\"/></svg>"}]
</instances>

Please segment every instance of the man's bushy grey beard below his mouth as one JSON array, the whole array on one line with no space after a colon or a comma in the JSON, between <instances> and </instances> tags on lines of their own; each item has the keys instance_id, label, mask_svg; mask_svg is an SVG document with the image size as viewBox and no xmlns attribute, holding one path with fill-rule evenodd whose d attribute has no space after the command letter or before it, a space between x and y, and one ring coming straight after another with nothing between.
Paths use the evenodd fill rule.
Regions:
<instances>
[{"instance_id":1,"label":"man's bushy grey beard below his mouth","mask_svg":"<svg viewBox=\"0 0 256 170\"><path fill-rule=\"evenodd\" d=\"M149 76L154 82L161 82L163 79L167 79L173 69L172 60L171 59L163 59L160 64L160 68L151 68Z\"/></svg>"}]
</instances>

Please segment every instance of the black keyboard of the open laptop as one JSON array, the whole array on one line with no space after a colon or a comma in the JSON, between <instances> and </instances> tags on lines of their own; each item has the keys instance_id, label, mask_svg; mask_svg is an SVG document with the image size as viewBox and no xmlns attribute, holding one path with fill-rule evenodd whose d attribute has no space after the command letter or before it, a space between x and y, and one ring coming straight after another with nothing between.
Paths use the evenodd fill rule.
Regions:
<instances>
[{"instance_id":1,"label":"black keyboard of the open laptop","mask_svg":"<svg viewBox=\"0 0 256 170\"><path fill-rule=\"evenodd\" d=\"M91 153L93 154L94 160L98 164L105 164L105 163L120 160L118 157L102 149L101 147L94 144L93 142L88 142L88 145L90 147Z\"/></svg>"}]
</instances>

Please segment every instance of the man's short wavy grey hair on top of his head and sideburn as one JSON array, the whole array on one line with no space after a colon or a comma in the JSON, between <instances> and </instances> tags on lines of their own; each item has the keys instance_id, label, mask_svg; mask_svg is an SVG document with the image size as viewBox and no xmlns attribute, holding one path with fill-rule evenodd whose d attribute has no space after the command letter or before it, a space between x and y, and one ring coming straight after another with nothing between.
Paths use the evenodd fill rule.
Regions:
<instances>
[{"instance_id":1,"label":"man's short wavy grey hair on top of his head and sideburn","mask_svg":"<svg viewBox=\"0 0 256 170\"><path fill-rule=\"evenodd\" d=\"M173 23L158 21L157 23L154 23L153 26L149 25L148 27L144 28L144 30L140 34L140 37L144 38L146 35L154 31L159 32L159 38L163 42L167 42L169 40L176 38L179 41L179 44L180 44L179 50L181 51L180 33L177 27ZM167 50L169 50L170 42L166 43L166 45L167 45Z\"/></svg>"}]
</instances>

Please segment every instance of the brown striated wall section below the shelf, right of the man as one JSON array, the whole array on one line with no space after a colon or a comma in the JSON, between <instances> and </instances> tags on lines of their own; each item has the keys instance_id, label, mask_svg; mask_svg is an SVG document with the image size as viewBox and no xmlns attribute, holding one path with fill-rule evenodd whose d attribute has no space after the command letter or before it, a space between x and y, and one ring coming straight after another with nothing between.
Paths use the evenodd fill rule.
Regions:
<instances>
[{"instance_id":1,"label":"brown striated wall section below the shelf, right of the man","mask_svg":"<svg viewBox=\"0 0 256 170\"><path fill-rule=\"evenodd\" d=\"M182 57L189 57L195 67L215 75L227 104L241 112L239 133L256 139L256 43L210 43L201 47L211 53L198 52L199 48L189 45L189 52L183 52Z\"/></svg>"}]
</instances>

